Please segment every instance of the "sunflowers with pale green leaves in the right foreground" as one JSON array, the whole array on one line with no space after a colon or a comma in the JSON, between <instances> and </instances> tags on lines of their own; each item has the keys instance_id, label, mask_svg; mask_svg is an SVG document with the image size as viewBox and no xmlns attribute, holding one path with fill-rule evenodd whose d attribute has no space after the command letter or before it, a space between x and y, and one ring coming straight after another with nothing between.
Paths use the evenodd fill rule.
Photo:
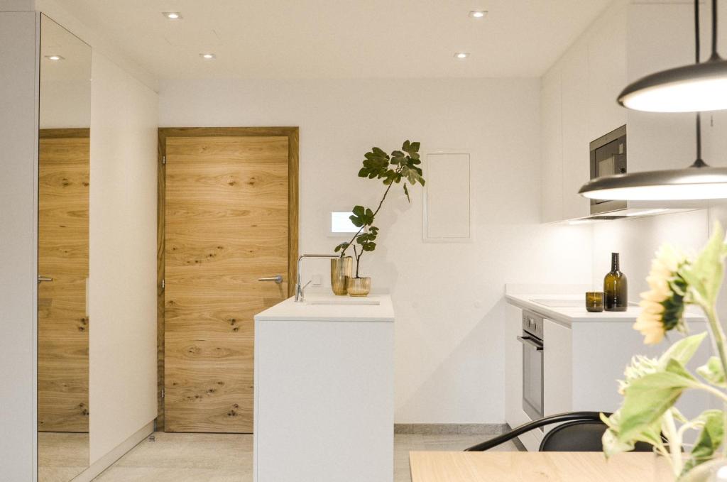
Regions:
<instances>
[{"instance_id":1,"label":"sunflowers with pale green leaves in the right foreground","mask_svg":"<svg viewBox=\"0 0 727 482\"><path fill-rule=\"evenodd\" d=\"M624 396L621 408L611 417L601 414L608 425L603 435L606 457L630 451L636 442L646 442L663 456L662 465L668 467L672 480L718 480L712 478L715 473L727 470L726 412L707 409L687 419L674 406L683 393L691 390L707 393L723 406L727 403L727 339L716 309L726 256L725 233L719 223L696 257L670 245L656 253L646 278L651 289L641 294L642 311L634 329L650 345L661 342L671 330L687 334L684 310L696 305L707 318L709 332L684 337L659 358L632 359L624 379L619 381L619 393ZM712 341L712 357L696 369L696 374L692 373L686 365L707 335ZM688 446L683 441L691 430L696 430L696 441Z\"/></svg>"}]
</instances>

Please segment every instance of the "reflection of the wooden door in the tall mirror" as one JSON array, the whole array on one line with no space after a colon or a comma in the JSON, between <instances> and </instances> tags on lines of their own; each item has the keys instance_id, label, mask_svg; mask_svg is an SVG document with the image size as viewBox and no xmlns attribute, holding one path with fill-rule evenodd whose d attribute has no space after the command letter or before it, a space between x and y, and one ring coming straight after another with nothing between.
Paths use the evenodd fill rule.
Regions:
<instances>
[{"instance_id":1,"label":"reflection of the wooden door in the tall mirror","mask_svg":"<svg viewBox=\"0 0 727 482\"><path fill-rule=\"evenodd\" d=\"M38 430L88 432L87 129L41 131L38 183Z\"/></svg>"}]
</instances>

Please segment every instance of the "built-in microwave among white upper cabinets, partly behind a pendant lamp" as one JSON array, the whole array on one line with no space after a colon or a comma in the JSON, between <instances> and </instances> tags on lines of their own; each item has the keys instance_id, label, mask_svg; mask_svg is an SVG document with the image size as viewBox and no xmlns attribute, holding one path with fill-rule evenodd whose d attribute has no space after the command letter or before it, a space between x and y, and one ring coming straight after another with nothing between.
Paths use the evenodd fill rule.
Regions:
<instances>
[{"instance_id":1,"label":"built-in microwave among white upper cabinets, partly behind a pendant lamp","mask_svg":"<svg viewBox=\"0 0 727 482\"><path fill-rule=\"evenodd\" d=\"M590 143L591 179L626 174L626 126L608 132ZM591 199L591 214L624 209L626 201Z\"/></svg>"}]
</instances>

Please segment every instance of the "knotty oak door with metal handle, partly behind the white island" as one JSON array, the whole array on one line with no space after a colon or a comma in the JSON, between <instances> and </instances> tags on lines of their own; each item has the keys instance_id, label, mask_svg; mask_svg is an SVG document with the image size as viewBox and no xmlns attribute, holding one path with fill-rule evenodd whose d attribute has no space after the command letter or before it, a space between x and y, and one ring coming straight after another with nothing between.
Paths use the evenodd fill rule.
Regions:
<instances>
[{"instance_id":1,"label":"knotty oak door with metal handle, partly behind the white island","mask_svg":"<svg viewBox=\"0 0 727 482\"><path fill-rule=\"evenodd\" d=\"M164 427L252 433L253 316L289 290L289 137L164 148Z\"/></svg>"}]
</instances>

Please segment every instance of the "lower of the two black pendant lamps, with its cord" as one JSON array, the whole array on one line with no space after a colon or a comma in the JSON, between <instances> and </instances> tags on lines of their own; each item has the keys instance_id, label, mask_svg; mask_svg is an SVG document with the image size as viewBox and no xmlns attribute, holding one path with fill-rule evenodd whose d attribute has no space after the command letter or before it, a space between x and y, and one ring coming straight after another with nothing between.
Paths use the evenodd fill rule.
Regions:
<instances>
[{"instance_id":1,"label":"lower of the two black pendant lamps, with its cord","mask_svg":"<svg viewBox=\"0 0 727 482\"><path fill-rule=\"evenodd\" d=\"M716 0L712 7L713 23L715 15ZM699 64L699 0L694 0L694 30L696 62L699 66L702 65ZM724 61L719 60L719 62ZM727 89L727 84L725 88ZM727 90L722 95L727 95ZM710 167L702 160L702 118L698 112L696 113L696 161L691 166L686 169L597 177L583 185L578 193L587 198L623 201L727 198L727 168Z\"/></svg>"}]
</instances>

